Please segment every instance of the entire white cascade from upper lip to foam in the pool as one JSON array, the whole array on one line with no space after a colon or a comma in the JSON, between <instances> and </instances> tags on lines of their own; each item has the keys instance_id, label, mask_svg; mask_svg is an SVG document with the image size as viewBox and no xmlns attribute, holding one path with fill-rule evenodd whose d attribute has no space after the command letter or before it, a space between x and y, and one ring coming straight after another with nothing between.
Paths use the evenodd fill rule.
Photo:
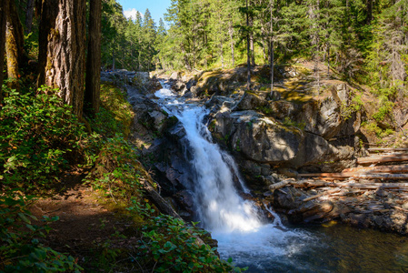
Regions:
<instances>
[{"instance_id":1,"label":"entire white cascade from upper lip to foam in the pool","mask_svg":"<svg viewBox=\"0 0 408 273\"><path fill-rule=\"evenodd\" d=\"M233 158L212 142L203 124L208 114L204 106L184 104L182 98L165 87L155 96L184 126L192 155L194 201L199 220L218 241L221 257L231 257L242 266L250 265L250 271L276 269L276 263L304 269L294 265L290 257L302 250L307 237L299 231L285 230L279 218L267 223L252 201L239 196L231 171L237 172L237 167ZM243 181L240 183L244 192L248 192Z\"/></svg>"}]
</instances>

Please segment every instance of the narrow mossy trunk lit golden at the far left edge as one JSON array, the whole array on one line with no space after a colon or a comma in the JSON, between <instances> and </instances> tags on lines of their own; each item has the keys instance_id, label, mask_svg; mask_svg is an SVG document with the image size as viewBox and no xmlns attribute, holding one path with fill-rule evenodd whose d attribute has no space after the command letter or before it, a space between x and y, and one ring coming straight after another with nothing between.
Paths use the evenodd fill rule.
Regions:
<instances>
[{"instance_id":1,"label":"narrow mossy trunk lit golden at the far left edge","mask_svg":"<svg viewBox=\"0 0 408 273\"><path fill-rule=\"evenodd\" d=\"M5 53L7 56L7 76L10 80L9 86L18 89L18 67L21 66L23 59L24 35L23 25L21 25L14 1L9 2L6 19Z\"/></svg>"}]
</instances>

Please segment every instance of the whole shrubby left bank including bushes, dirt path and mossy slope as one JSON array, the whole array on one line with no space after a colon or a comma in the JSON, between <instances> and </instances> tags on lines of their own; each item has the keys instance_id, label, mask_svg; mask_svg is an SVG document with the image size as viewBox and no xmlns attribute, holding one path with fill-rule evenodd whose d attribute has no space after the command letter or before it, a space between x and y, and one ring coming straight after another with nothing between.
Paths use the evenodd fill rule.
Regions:
<instances>
[{"instance_id":1,"label":"whole shrubby left bank including bushes, dirt path and mossy slope","mask_svg":"<svg viewBox=\"0 0 408 273\"><path fill-rule=\"evenodd\" d=\"M100 112L78 120L55 89L4 88L0 271L242 270L144 197L124 90L103 84Z\"/></svg>"}]
</instances>

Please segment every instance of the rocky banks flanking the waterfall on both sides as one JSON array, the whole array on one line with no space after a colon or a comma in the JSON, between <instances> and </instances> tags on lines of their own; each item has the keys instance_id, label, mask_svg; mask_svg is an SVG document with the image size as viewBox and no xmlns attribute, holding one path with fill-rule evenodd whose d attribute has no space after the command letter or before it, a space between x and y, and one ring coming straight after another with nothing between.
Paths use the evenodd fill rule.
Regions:
<instances>
[{"instance_id":1,"label":"rocky banks flanking the waterfall on both sides","mask_svg":"<svg viewBox=\"0 0 408 273\"><path fill-rule=\"evenodd\" d=\"M165 79L180 96L211 110L207 125L214 141L234 157L259 207L271 205L294 223L339 220L407 234L404 190L359 188L367 183L363 178L343 182L302 177L341 172L356 167L357 158L368 155L363 146L367 137L361 130L366 111L353 100L353 86L329 76L322 76L317 85L306 68L281 67L275 71L271 95L267 85L261 84L267 67L254 69L250 92L245 92L244 74L244 68L238 67L155 75L147 81L153 91L158 88L157 78ZM192 219L194 202L185 186L194 183L194 178L183 147L184 128L152 100L151 92L133 84L146 81L146 76L134 78L127 82L136 112L131 137L141 147L144 165L153 170L161 194L182 217ZM285 187L270 190L290 177L293 180ZM357 186L346 187L352 182ZM333 187L333 183L339 185Z\"/></svg>"}]
</instances>

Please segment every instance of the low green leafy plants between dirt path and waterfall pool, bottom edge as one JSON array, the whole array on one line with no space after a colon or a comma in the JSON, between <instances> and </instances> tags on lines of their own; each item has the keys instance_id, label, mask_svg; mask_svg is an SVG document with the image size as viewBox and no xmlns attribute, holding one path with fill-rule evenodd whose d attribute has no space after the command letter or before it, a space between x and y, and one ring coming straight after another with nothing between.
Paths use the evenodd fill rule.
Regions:
<instances>
[{"instance_id":1,"label":"low green leafy plants between dirt path and waterfall pool, bottom edge","mask_svg":"<svg viewBox=\"0 0 408 273\"><path fill-rule=\"evenodd\" d=\"M142 253L137 257L145 267L153 266L155 272L242 272L231 260L224 261L214 254L215 248L200 244L197 237L206 232L187 227L180 219L160 214L154 217L154 209L133 200L128 210L144 217Z\"/></svg>"}]
</instances>

